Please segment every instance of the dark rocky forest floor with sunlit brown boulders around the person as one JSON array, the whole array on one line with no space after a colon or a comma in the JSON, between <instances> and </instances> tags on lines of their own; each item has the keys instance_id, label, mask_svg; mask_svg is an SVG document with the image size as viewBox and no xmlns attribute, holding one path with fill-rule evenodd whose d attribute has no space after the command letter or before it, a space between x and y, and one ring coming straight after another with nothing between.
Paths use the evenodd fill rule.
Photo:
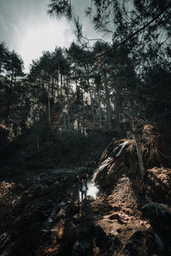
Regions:
<instances>
[{"instance_id":1,"label":"dark rocky forest floor with sunlit brown boulders around the person","mask_svg":"<svg viewBox=\"0 0 171 256\"><path fill-rule=\"evenodd\" d=\"M169 141L157 134L154 144L147 132L143 189L134 140L112 140L97 166L87 161L3 180L0 255L170 255L171 170L158 153ZM99 192L80 204L77 176L86 174Z\"/></svg>"}]
</instances>

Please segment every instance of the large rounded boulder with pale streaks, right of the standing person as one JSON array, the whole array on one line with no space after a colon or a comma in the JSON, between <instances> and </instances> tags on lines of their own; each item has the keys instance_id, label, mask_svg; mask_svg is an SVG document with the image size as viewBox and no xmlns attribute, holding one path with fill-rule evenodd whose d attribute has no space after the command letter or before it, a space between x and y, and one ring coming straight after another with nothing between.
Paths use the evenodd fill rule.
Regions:
<instances>
[{"instance_id":1,"label":"large rounded boulder with pale streaks, right of the standing person","mask_svg":"<svg viewBox=\"0 0 171 256\"><path fill-rule=\"evenodd\" d=\"M123 175L140 176L134 140L113 141L107 146L97 167L95 182L101 188L113 188Z\"/></svg>"}]
</instances>

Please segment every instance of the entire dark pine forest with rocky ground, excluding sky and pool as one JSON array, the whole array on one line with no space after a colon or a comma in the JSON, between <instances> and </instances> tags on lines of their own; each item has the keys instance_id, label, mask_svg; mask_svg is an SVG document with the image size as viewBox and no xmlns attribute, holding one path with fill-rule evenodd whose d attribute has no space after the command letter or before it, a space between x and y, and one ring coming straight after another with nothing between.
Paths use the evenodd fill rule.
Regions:
<instances>
[{"instance_id":1,"label":"entire dark pine forest with rocky ground, excluding sky and pool","mask_svg":"<svg viewBox=\"0 0 171 256\"><path fill-rule=\"evenodd\" d=\"M47 15L75 41L27 74L0 43L0 254L170 255L171 2L87 1L108 41L86 36L74 1ZM85 173L99 194L80 206Z\"/></svg>"}]
</instances>

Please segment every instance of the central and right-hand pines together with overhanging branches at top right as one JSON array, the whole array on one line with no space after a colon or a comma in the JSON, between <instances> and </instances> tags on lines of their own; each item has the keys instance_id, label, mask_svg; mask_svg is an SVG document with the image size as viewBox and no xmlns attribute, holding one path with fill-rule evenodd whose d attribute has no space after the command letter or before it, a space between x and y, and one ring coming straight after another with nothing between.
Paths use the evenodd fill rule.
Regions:
<instances>
[{"instance_id":1,"label":"central and right-hand pines together with overhanging branches at top right","mask_svg":"<svg viewBox=\"0 0 171 256\"><path fill-rule=\"evenodd\" d=\"M92 1L86 15L113 38L92 46L71 1L50 1L49 13L73 17L80 40L32 63L29 77L46 91L50 125L85 134L87 128L117 130L135 119L169 121L169 2Z\"/></svg>"}]
</instances>

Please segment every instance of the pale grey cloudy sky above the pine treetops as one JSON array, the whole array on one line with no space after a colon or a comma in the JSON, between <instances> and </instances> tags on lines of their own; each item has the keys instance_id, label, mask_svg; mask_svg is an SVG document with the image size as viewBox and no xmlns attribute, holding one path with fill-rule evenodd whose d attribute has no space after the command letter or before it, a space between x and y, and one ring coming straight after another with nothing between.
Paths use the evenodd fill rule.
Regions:
<instances>
[{"instance_id":1,"label":"pale grey cloudy sky above the pine treetops","mask_svg":"<svg viewBox=\"0 0 171 256\"><path fill-rule=\"evenodd\" d=\"M90 0L73 0L76 13L84 22L90 38L96 37L83 11ZM47 15L50 0L0 0L0 42L15 50L24 60L28 72L32 60L42 51L54 51L56 46L68 47L74 40L74 26L66 19Z\"/></svg>"}]
</instances>

